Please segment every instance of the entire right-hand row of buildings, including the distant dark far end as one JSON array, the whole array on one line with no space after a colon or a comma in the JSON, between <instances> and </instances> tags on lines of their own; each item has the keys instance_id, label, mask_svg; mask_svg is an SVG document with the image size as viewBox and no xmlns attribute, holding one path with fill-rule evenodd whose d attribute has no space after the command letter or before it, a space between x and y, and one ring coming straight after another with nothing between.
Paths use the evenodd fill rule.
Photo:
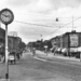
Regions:
<instances>
[{"instance_id":1,"label":"entire right-hand row of buildings, including the distant dark far end","mask_svg":"<svg viewBox=\"0 0 81 81\"><path fill-rule=\"evenodd\" d=\"M44 45L48 45L48 50L63 54L65 56L80 57L81 52L81 32L72 30L60 36L56 36L50 40L38 40L29 42L30 48L44 50Z\"/></svg>"}]
</instances>

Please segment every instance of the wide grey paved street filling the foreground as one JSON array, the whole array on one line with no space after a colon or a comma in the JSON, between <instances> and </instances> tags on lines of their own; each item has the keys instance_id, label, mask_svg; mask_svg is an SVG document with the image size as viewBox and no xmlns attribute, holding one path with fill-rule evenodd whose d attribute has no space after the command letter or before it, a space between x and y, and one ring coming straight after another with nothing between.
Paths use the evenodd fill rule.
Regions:
<instances>
[{"instance_id":1,"label":"wide grey paved street filling the foreground","mask_svg":"<svg viewBox=\"0 0 81 81\"><path fill-rule=\"evenodd\" d=\"M45 59L45 54L40 53L33 57L26 52L16 65L9 65L10 81L81 81L80 62L55 57ZM0 78L4 75L5 64L0 64Z\"/></svg>"}]
</instances>

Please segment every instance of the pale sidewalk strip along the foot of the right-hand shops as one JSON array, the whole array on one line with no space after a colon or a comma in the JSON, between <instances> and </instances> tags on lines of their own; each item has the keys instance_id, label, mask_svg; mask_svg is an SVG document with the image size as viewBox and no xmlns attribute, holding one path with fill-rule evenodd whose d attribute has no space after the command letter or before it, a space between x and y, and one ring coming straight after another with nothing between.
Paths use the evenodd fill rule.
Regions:
<instances>
[{"instance_id":1,"label":"pale sidewalk strip along the foot of the right-hand shops","mask_svg":"<svg viewBox=\"0 0 81 81\"><path fill-rule=\"evenodd\" d=\"M46 55L44 52L42 51L37 51L38 54L43 54ZM58 54L53 54L53 53L48 53L48 57L55 57L55 58L60 58L60 59L68 59L68 60L77 60L80 62L80 58L76 58L76 57L69 57L69 56L63 56L63 55L58 55Z\"/></svg>"}]
</instances>

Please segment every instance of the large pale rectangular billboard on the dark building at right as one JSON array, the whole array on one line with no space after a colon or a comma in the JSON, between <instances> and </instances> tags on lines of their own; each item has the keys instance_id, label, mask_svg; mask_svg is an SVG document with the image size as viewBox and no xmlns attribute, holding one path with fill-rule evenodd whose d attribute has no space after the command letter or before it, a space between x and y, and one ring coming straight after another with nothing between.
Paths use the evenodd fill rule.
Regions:
<instances>
[{"instance_id":1,"label":"large pale rectangular billboard on the dark building at right","mask_svg":"<svg viewBox=\"0 0 81 81\"><path fill-rule=\"evenodd\" d=\"M78 33L70 33L70 48L77 48L79 39L78 39Z\"/></svg>"}]
</instances>

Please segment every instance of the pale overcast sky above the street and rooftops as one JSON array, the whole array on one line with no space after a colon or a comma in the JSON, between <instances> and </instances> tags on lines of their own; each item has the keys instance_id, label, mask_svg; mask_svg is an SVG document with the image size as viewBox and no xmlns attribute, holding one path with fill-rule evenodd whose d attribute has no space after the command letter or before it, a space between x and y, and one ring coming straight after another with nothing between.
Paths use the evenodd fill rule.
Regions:
<instances>
[{"instance_id":1,"label":"pale overcast sky above the street and rooftops","mask_svg":"<svg viewBox=\"0 0 81 81\"><path fill-rule=\"evenodd\" d=\"M26 43L72 29L81 31L81 0L1 0L0 10L5 8L11 9L15 16L9 25L9 32L17 31ZM55 22L56 17L58 22Z\"/></svg>"}]
</instances>

